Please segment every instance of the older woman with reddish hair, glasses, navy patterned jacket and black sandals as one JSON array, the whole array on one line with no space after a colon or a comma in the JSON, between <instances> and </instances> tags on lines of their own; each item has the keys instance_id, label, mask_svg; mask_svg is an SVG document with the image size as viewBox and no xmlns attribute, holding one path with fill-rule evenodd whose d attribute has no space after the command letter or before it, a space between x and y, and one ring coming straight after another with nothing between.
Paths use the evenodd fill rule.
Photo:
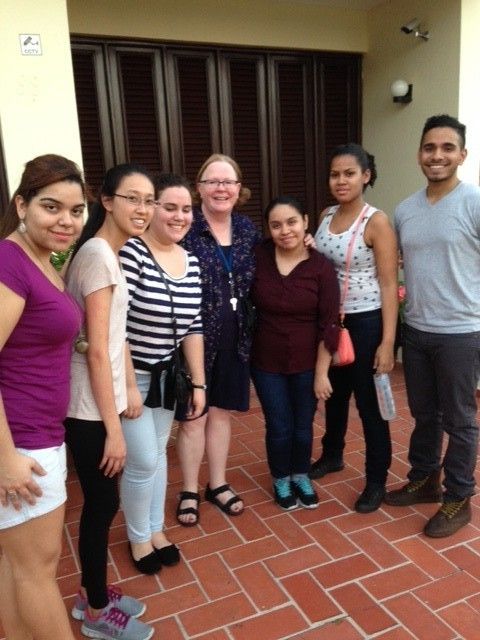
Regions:
<instances>
[{"instance_id":1,"label":"older woman with reddish hair, glasses, navy patterned jacket and black sandals","mask_svg":"<svg viewBox=\"0 0 480 640\"><path fill-rule=\"evenodd\" d=\"M205 499L236 516L243 501L226 480L230 446L230 411L249 407L250 328L246 301L253 280L254 247L260 234L235 211L250 197L242 174L229 156L210 156L197 174L200 206L183 246L197 256L202 272L202 320L205 338L207 411L182 422L177 448L183 473L177 520L183 526L199 521L198 475L207 454L209 480Z\"/></svg>"}]
</instances>

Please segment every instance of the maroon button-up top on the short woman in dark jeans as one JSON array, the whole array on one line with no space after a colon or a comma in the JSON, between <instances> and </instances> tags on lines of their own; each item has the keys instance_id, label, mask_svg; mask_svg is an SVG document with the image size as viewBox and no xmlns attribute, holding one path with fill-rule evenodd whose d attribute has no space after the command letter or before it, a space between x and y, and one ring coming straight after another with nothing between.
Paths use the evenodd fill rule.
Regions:
<instances>
[{"instance_id":1,"label":"maroon button-up top on the short woman in dark jeans","mask_svg":"<svg viewBox=\"0 0 480 640\"><path fill-rule=\"evenodd\" d=\"M252 298L257 308L252 364L270 373L300 373L315 368L324 340L333 353L338 343L338 280L332 263L310 250L309 257L283 276L275 247L266 240L256 249Z\"/></svg>"}]
</instances>

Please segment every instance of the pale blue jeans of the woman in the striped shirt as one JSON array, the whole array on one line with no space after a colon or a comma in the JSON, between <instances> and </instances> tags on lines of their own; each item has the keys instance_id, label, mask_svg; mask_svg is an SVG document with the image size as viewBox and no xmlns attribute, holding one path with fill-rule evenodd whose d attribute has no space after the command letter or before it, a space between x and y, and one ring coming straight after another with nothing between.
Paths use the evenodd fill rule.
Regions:
<instances>
[{"instance_id":1,"label":"pale blue jeans of the woman in the striped shirt","mask_svg":"<svg viewBox=\"0 0 480 640\"><path fill-rule=\"evenodd\" d=\"M165 372L162 374L162 387ZM137 385L145 400L149 373L137 373ZM120 498L130 542L148 542L163 530L167 490L167 442L174 411L143 406L135 420L122 418L127 459L120 481Z\"/></svg>"}]
</instances>

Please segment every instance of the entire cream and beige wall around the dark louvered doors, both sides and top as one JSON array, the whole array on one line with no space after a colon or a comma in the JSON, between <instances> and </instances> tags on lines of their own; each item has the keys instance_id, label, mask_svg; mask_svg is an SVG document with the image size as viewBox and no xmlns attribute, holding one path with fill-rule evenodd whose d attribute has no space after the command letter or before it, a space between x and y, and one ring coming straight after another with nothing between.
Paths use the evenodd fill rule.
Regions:
<instances>
[{"instance_id":1,"label":"entire cream and beige wall around the dark louvered doors, both sides and top","mask_svg":"<svg viewBox=\"0 0 480 640\"><path fill-rule=\"evenodd\" d=\"M372 202L391 212L423 184L415 151L432 113L459 114L466 121L465 174L478 177L480 151L472 143L480 139L480 83L471 78L479 59L473 33L479 0L387 0L369 12L327 9L311 0L48 0L45 7L38 0L0 2L0 125L12 188L24 162L39 153L81 161L69 31L366 52L363 140L379 168ZM400 32L414 17L425 22L430 41ZM40 33L43 56L20 55L18 34L28 32ZM393 104L389 87L396 78L413 83L410 105Z\"/></svg>"}]
</instances>

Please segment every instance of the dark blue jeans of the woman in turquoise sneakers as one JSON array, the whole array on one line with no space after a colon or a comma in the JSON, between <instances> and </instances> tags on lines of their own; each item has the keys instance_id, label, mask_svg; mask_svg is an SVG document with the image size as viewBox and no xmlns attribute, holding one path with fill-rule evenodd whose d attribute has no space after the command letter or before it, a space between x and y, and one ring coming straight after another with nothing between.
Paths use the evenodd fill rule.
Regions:
<instances>
[{"instance_id":1,"label":"dark blue jeans of the woman in turquoise sneakers","mask_svg":"<svg viewBox=\"0 0 480 640\"><path fill-rule=\"evenodd\" d=\"M312 453L314 371L283 374L252 367L252 379L265 416L267 459L274 478L307 473Z\"/></svg>"}]
</instances>

